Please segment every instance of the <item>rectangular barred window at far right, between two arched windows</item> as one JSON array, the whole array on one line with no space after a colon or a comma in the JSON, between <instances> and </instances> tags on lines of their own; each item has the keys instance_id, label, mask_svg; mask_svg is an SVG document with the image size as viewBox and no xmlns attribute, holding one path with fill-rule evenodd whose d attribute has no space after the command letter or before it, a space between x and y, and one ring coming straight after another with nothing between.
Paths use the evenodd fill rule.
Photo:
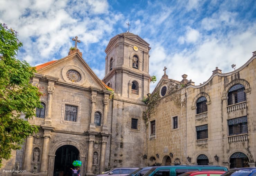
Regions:
<instances>
[{"instance_id":1,"label":"rectangular barred window at far right, between two arched windows","mask_svg":"<svg viewBox=\"0 0 256 176\"><path fill-rule=\"evenodd\" d=\"M229 135L247 133L247 116L228 120Z\"/></svg>"}]
</instances>

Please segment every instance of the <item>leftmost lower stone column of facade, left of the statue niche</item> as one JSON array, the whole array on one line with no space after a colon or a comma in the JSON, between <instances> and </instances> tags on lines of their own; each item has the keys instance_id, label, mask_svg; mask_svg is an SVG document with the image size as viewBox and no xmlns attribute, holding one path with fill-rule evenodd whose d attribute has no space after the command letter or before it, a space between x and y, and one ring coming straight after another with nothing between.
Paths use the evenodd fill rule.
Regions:
<instances>
[{"instance_id":1,"label":"leftmost lower stone column of facade, left of the statue niche","mask_svg":"<svg viewBox=\"0 0 256 176\"><path fill-rule=\"evenodd\" d=\"M33 151L33 136L28 136L26 140L26 148L24 152L23 170L31 171L31 158Z\"/></svg>"}]
</instances>

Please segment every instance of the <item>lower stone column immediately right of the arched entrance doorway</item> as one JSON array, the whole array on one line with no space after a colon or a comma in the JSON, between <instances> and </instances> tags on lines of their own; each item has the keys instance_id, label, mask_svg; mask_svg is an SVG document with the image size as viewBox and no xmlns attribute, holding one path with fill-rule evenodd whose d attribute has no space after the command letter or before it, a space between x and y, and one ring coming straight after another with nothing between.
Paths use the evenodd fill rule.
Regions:
<instances>
[{"instance_id":1,"label":"lower stone column immediately right of the arched entrance doorway","mask_svg":"<svg viewBox=\"0 0 256 176\"><path fill-rule=\"evenodd\" d=\"M88 142L88 157L87 157L87 168L86 175L94 175L92 172L92 159L93 159L93 144L94 144L94 135L89 136Z\"/></svg>"}]
</instances>

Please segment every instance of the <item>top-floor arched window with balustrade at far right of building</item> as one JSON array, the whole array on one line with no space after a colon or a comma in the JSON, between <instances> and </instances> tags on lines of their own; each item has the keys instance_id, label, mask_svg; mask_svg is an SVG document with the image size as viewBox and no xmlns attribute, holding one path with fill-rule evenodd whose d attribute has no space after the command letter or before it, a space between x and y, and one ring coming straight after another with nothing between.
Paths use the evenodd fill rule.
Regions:
<instances>
[{"instance_id":1,"label":"top-floor arched window with balustrade at far right of building","mask_svg":"<svg viewBox=\"0 0 256 176\"><path fill-rule=\"evenodd\" d=\"M228 91L228 105L243 101L246 101L245 86L243 84L232 86Z\"/></svg>"}]
</instances>

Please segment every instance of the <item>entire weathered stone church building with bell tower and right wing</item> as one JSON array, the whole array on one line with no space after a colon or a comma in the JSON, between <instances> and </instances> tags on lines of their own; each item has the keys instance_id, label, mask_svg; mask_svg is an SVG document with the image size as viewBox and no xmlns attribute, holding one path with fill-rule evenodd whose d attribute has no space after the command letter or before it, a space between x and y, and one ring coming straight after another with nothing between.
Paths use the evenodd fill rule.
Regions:
<instances>
[{"instance_id":1,"label":"entire weathered stone church building with bell tower and right wing","mask_svg":"<svg viewBox=\"0 0 256 176\"><path fill-rule=\"evenodd\" d=\"M153 165L255 167L256 53L233 72L216 68L198 86L185 74L169 79L165 68L149 94L149 50L138 35L116 35L102 80L76 47L36 66L31 84L42 90L43 108L29 122L39 132L1 168L27 172L3 175L65 176L75 160L81 175Z\"/></svg>"}]
</instances>

